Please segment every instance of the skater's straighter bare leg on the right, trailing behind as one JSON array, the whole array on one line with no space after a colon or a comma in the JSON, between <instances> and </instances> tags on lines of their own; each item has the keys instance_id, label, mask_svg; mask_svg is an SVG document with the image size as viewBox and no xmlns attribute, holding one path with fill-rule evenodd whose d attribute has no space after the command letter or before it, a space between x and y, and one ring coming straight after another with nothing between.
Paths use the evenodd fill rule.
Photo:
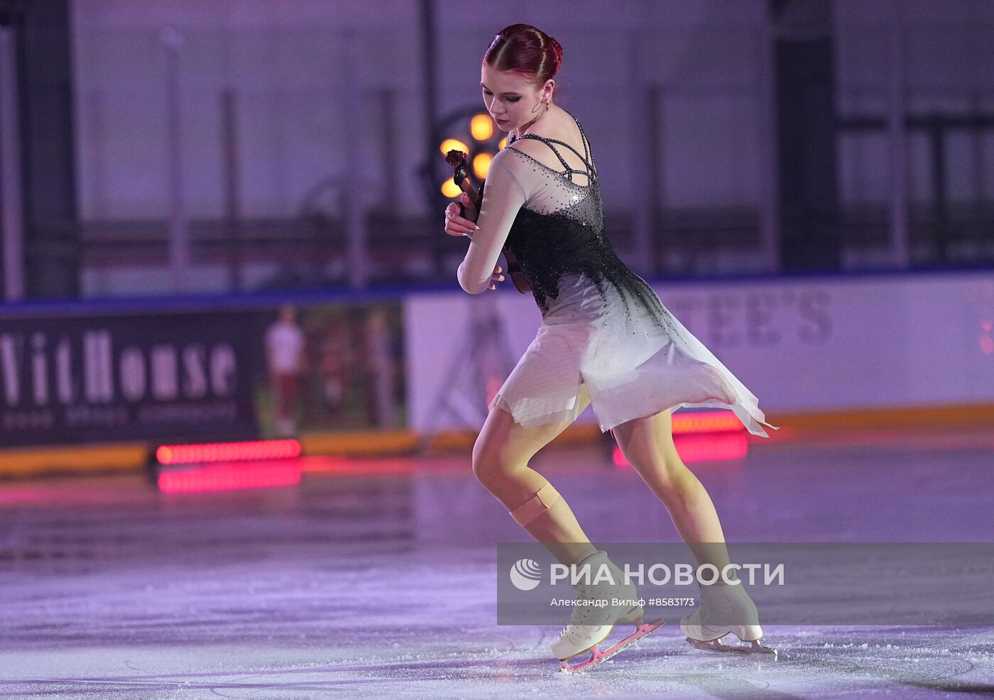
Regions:
<instances>
[{"instance_id":1,"label":"skater's straighter bare leg on the right, trailing behind","mask_svg":"<svg viewBox=\"0 0 994 700\"><path fill-rule=\"evenodd\" d=\"M680 459L673 444L673 410L622 423L614 437L628 463L659 497L697 563L729 564L725 534L704 485Z\"/></svg>"}]
</instances>

